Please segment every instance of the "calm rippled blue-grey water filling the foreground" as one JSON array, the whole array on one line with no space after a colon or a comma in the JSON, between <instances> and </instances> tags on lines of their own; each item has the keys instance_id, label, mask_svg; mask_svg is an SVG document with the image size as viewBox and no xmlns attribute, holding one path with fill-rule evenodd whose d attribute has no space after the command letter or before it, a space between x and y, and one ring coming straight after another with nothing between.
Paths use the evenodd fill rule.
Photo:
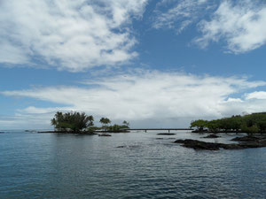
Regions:
<instances>
[{"instance_id":1,"label":"calm rippled blue-grey water filling the foreground","mask_svg":"<svg viewBox=\"0 0 266 199\"><path fill-rule=\"evenodd\" d=\"M203 136L185 132L112 135L0 134L0 198L266 197L266 148L185 149L175 139Z\"/></svg>"}]
</instances>

